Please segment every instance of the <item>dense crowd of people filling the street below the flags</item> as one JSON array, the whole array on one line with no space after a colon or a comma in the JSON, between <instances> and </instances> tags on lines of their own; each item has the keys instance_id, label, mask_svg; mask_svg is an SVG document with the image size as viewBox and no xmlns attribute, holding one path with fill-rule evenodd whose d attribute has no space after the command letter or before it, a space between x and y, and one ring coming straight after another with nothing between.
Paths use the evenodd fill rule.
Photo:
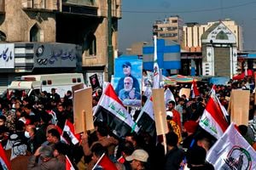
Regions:
<instances>
[{"instance_id":1,"label":"dense crowd of people filling the street below the flags","mask_svg":"<svg viewBox=\"0 0 256 170\"><path fill-rule=\"evenodd\" d=\"M226 109L232 89L250 90L248 121L256 117L253 82L251 78L241 82L230 80L228 85L218 85L215 88L218 99ZM166 101L169 133L166 133L165 137L140 131L126 133L123 138L118 138L107 124L96 121L95 130L81 134L79 144L73 144L68 138L63 142L65 134L60 133L66 121L73 123L71 91L61 98L55 93L55 89L52 89L51 93L42 92L36 99L14 93L0 99L1 144L13 169L66 169L67 157L76 169L103 169L97 163L102 154L105 154L113 162L113 169L186 167L211 170L214 167L206 161L206 156L216 139L204 131L198 121L207 105L212 84L198 84L201 95L196 98L178 95L179 90L185 86L188 84L165 87L174 95L174 100ZM100 95L93 96L93 106L97 105ZM143 95L142 99L144 105L147 97ZM139 112L131 113L135 120ZM240 130L255 149L256 128L241 125ZM166 148L163 142L166 142Z\"/></svg>"}]
</instances>

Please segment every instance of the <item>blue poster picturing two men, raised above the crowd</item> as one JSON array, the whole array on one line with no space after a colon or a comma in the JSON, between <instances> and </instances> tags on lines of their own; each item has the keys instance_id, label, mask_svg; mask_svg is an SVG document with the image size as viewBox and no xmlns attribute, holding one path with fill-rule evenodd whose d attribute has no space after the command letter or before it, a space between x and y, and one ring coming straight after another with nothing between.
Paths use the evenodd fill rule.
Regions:
<instances>
[{"instance_id":1,"label":"blue poster picturing two men, raised above the crowd","mask_svg":"<svg viewBox=\"0 0 256 170\"><path fill-rule=\"evenodd\" d=\"M143 60L121 57L114 61L113 87L119 99L127 106L140 106L142 99Z\"/></svg>"}]
</instances>

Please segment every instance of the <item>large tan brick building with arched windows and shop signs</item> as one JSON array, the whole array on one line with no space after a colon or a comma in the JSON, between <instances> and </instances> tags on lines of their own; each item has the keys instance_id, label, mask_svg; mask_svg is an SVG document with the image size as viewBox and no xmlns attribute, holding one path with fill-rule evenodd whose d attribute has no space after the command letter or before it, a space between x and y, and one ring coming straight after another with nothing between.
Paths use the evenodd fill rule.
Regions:
<instances>
[{"instance_id":1,"label":"large tan brick building with arched windows and shop signs","mask_svg":"<svg viewBox=\"0 0 256 170\"><path fill-rule=\"evenodd\" d=\"M25 74L107 76L108 38L117 49L121 18L121 0L111 0L108 37L108 1L0 0L0 86Z\"/></svg>"}]
</instances>

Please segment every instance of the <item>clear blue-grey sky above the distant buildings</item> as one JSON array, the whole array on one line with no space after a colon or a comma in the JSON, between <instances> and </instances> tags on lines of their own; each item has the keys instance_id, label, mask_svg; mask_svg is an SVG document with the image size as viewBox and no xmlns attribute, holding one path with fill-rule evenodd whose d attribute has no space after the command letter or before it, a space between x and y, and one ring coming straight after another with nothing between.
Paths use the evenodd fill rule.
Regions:
<instances>
[{"instance_id":1,"label":"clear blue-grey sky above the distant buildings","mask_svg":"<svg viewBox=\"0 0 256 170\"><path fill-rule=\"evenodd\" d=\"M122 0L119 51L134 42L152 42L155 20L179 15L183 23L224 19L242 26L244 50L256 50L256 0Z\"/></svg>"}]
</instances>

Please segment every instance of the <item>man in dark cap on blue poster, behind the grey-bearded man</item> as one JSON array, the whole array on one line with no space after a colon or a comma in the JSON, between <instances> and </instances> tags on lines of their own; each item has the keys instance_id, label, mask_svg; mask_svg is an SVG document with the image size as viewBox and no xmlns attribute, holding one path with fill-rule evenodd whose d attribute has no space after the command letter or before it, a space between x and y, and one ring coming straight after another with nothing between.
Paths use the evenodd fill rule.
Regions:
<instances>
[{"instance_id":1,"label":"man in dark cap on blue poster, behind the grey-bearded man","mask_svg":"<svg viewBox=\"0 0 256 170\"><path fill-rule=\"evenodd\" d=\"M124 73L125 77L131 77L132 78L132 80L133 80L132 88L135 88L136 91L138 93L140 93L140 84L137 81L137 78L133 77L131 75L131 63L129 61L125 61L125 63L122 65L122 68L123 68L123 73ZM125 77L121 77L119 79L118 85L116 86L116 88L114 90L116 94L119 94L119 91L124 88Z\"/></svg>"}]
</instances>

